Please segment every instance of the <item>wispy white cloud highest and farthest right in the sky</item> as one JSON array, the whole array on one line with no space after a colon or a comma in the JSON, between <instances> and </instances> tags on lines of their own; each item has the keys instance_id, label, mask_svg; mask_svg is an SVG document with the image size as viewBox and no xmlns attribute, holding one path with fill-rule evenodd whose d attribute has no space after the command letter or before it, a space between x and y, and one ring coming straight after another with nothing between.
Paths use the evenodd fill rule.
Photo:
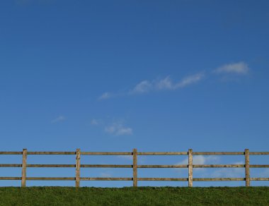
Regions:
<instances>
[{"instance_id":1,"label":"wispy white cloud highest and farthest right in the sky","mask_svg":"<svg viewBox=\"0 0 269 206\"><path fill-rule=\"evenodd\" d=\"M214 70L214 73L236 73L245 75L249 72L250 68L248 64L244 63L244 61L240 61L237 63L229 63Z\"/></svg>"}]
</instances>

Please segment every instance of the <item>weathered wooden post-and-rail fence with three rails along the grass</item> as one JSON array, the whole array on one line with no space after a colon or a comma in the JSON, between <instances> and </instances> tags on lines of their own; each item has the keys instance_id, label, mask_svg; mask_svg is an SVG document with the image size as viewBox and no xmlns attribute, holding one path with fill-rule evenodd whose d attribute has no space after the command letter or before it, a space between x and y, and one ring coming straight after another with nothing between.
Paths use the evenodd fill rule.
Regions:
<instances>
[{"instance_id":1,"label":"weathered wooden post-and-rail fence with three rails along the grass","mask_svg":"<svg viewBox=\"0 0 269 206\"><path fill-rule=\"evenodd\" d=\"M0 154L22 154L22 164L0 164L0 167L21 167L21 177L0 177L0 180L21 180L21 186L26 186L26 181L76 181L76 187L79 187L80 181L132 181L133 186L137 187L137 181L188 181L188 186L193 186L193 181L246 181L246 186L251 185L251 181L269 181L269 178L251 178L250 168L269 168L269 164L250 164L250 155L269 155L269 152L249 152L246 149L244 152L137 152L133 149L132 152L81 152L77 149L76 152L28 152L23 149L23 152L0 152ZM76 164L27 164L28 155L41 154L64 154L76 155ZM132 155L132 164L81 164L81 155ZM188 155L188 164L181 165L138 165L138 155ZM245 164L193 164L194 155L244 155ZM74 167L76 168L75 177L28 177L26 169L28 167ZM105 178L105 177L81 177L81 168L132 168L133 175L130 178ZM137 177L137 169L139 168L188 168L188 178L139 178ZM193 168L245 168L245 178L193 178Z\"/></svg>"}]
</instances>

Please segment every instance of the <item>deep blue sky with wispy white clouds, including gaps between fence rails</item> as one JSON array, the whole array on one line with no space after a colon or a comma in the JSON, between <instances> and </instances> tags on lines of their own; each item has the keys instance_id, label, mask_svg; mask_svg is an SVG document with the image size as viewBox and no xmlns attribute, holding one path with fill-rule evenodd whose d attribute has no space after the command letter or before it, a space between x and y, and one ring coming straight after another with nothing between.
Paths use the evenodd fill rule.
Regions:
<instances>
[{"instance_id":1,"label":"deep blue sky with wispy white clouds, including gaps between fence rails","mask_svg":"<svg viewBox=\"0 0 269 206\"><path fill-rule=\"evenodd\" d=\"M0 150L269 151L268 6L263 0L1 1ZM129 157L83 158L85 164L132 164ZM195 161L236 164L242 158ZM21 156L2 155L0 161L21 164ZM75 159L28 157L31 161L74 164ZM140 164L184 161L139 157ZM251 161L268 164L269 157ZM86 169L82 175L132 176L127 170ZM141 169L139 176L188 176L181 170ZM240 169L196 170L197 176L244 176ZM6 174L21 176L21 169L0 168L0 176ZM28 174L74 176L74 170L28 169ZM269 170L251 174L269 177ZM74 182L28 183L46 184ZM194 186L224 184L244 186ZM269 186L253 183L259 184ZM0 181L6 185L20 183Z\"/></svg>"}]
</instances>

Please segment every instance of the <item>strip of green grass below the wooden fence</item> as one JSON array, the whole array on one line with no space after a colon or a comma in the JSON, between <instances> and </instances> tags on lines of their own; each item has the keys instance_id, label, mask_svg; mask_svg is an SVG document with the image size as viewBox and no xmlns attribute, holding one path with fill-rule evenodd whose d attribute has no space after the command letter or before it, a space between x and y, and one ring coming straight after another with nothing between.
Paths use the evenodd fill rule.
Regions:
<instances>
[{"instance_id":1,"label":"strip of green grass below the wooden fence","mask_svg":"<svg viewBox=\"0 0 269 206\"><path fill-rule=\"evenodd\" d=\"M0 188L0 205L269 205L269 187Z\"/></svg>"}]
</instances>

